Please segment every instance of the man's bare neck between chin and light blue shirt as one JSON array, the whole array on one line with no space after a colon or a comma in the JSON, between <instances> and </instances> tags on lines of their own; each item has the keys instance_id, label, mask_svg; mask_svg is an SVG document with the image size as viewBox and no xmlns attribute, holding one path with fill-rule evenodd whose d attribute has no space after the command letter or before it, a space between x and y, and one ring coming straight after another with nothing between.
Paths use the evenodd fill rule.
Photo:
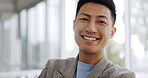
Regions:
<instances>
[{"instance_id":1,"label":"man's bare neck between chin and light blue shirt","mask_svg":"<svg viewBox=\"0 0 148 78\"><path fill-rule=\"evenodd\" d=\"M97 52L97 53L84 53L84 52L79 52L79 61L95 65L103 56L103 52Z\"/></svg>"}]
</instances>

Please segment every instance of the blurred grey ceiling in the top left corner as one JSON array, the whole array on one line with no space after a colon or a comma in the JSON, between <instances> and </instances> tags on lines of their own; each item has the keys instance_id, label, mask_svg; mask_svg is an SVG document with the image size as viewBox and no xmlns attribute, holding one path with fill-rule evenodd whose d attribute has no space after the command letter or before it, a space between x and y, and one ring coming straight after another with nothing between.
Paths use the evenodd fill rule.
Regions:
<instances>
[{"instance_id":1,"label":"blurred grey ceiling in the top left corner","mask_svg":"<svg viewBox=\"0 0 148 78\"><path fill-rule=\"evenodd\" d=\"M9 18L13 13L33 6L43 0L0 0L0 21Z\"/></svg>"}]
</instances>

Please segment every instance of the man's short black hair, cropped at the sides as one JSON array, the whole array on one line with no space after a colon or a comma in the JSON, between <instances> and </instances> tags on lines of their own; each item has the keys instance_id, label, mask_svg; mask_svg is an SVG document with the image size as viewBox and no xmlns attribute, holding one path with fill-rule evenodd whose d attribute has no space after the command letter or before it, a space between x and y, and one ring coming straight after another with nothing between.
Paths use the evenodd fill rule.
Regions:
<instances>
[{"instance_id":1,"label":"man's short black hair, cropped at the sides","mask_svg":"<svg viewBox=\"0 0 148 78\"><path fill-rule=\"evenodd\" d=\"M115 7L115 4L114 4L114 1L113 0L79 0L78 4L77 4L77 10L76 10L76 17L77 17L77 14L80 10L80 8L88 3L88 2L93 2L93 3L97 3L97 4L102 4L106 7L108 7L111 11L111 15L112 15L112 20L113 20L113 25L115 24L115 21L116 21L116 7Z\"/></svg>"}]
</instances>

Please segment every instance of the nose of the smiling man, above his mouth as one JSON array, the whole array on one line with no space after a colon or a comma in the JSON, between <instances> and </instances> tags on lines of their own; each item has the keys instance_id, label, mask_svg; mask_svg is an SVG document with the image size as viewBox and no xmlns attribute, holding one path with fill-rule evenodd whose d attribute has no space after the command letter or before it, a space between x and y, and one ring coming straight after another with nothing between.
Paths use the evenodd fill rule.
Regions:
<instances>
[{"instance_id":1,"label":"nose of the smiling man, above his mouth","mask_svg":"<svg viewBox=\"0 0 148 78\"><path fill-rule=\"evenodd\" d=\"M88 25L85 28L86 32L88 33L96 33L96 27L95 27L95 22L91 21L88 23Z\"/></svg>"}]
</instances>

